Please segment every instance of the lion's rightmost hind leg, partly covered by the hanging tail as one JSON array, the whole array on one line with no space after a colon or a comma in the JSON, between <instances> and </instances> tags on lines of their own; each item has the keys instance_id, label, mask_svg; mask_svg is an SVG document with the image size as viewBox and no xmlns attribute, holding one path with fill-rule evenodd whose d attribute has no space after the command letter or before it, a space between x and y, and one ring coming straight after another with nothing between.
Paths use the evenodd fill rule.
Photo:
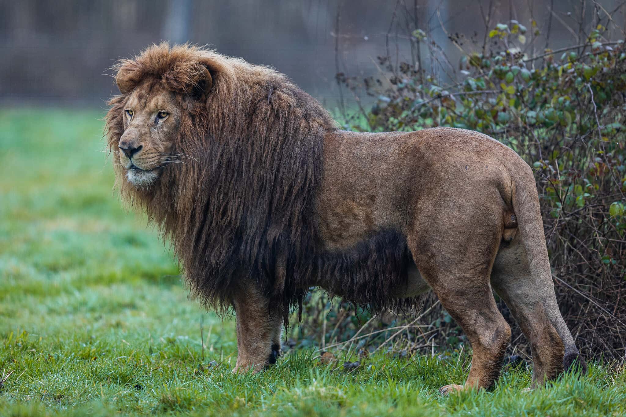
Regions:
<instances>
[{"instance_id":1,"label":"lion's rightmost hind leg, partly covered by the hanging tail","mask_svg":"<svg viewBox=\"0 0 626 417\"><path fill-rule=\"evenodd\" d=\"M542 291L544 285L537 281L538 277L531 275L520 240L518 234L513 242L501 247L493 265L491 284L530 342L533 355L531 388L535 388L545 380L556 378L563 370L563 342L546 312L549 308L558 312L557 300L553 292Z\"/></svg>"}]
</instances>

